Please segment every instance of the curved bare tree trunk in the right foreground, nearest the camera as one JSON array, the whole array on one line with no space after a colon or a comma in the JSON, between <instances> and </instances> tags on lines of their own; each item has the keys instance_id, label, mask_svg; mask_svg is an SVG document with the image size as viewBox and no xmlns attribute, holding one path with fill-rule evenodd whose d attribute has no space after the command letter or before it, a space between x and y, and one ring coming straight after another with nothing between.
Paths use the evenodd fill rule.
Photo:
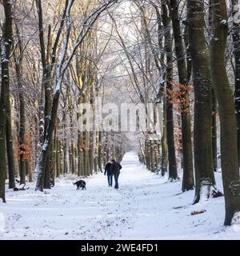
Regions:
<instances>
[{"instance_id":1,"label":"curved bare tree trunk in the right foreground, nearest the camera","mask_svg":"<svg viewBox=\"0 0 240 256\"><path fill-rule=\"evenodd\" d=\"M226 74L225 50L228 33L225 0L212 0L213 37L210 40L210 68L218 99L221 129L222 182L225 194L225 225L240 211L237 122L234 101Z\"/></svg>"}]
</instances>

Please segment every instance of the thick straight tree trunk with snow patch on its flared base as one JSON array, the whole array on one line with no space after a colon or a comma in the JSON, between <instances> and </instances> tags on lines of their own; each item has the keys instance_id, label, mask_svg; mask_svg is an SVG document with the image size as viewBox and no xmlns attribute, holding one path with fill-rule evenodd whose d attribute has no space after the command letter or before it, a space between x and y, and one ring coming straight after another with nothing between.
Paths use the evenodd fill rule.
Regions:
<instances>
[{"instance_id":1,"label":"thick straight tree trunk with snow patch on its flared base","mask_svg":"<svg viewBox=\"0 0 240 256\"><path fill-rule=\"evenodd\" d=\"M204 34L204 1L188 0L187 7L194 79L194 203L197 203L201 197L209 198L216 192L212 152L212 82Z\"/></svg>"}]
</instances>

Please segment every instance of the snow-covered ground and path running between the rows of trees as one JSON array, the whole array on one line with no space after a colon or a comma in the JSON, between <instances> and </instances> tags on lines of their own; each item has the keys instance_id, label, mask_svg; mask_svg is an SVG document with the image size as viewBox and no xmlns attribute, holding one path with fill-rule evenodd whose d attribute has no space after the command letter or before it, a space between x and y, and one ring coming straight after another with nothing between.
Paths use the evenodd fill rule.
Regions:
<instances>
[{"instance_id":1,"label":"snow-covered ground and path running between the rows of trees","mask_svg":"<svg viewBox=\"0 0 240 256\"><path fill-rule=\"evenodd\" d=\"M181 180L168 182L138 162L134 152L122 161L119 190L106 176L59 178L45 193L6 191L0 203L0 239L240 239L240 226L224 227L223 198L192 206L194 191L182 193ZM222 188L221 174L216 174ZM194 210L206 210L191 215Z\"/></svg>"}]
</instances>

